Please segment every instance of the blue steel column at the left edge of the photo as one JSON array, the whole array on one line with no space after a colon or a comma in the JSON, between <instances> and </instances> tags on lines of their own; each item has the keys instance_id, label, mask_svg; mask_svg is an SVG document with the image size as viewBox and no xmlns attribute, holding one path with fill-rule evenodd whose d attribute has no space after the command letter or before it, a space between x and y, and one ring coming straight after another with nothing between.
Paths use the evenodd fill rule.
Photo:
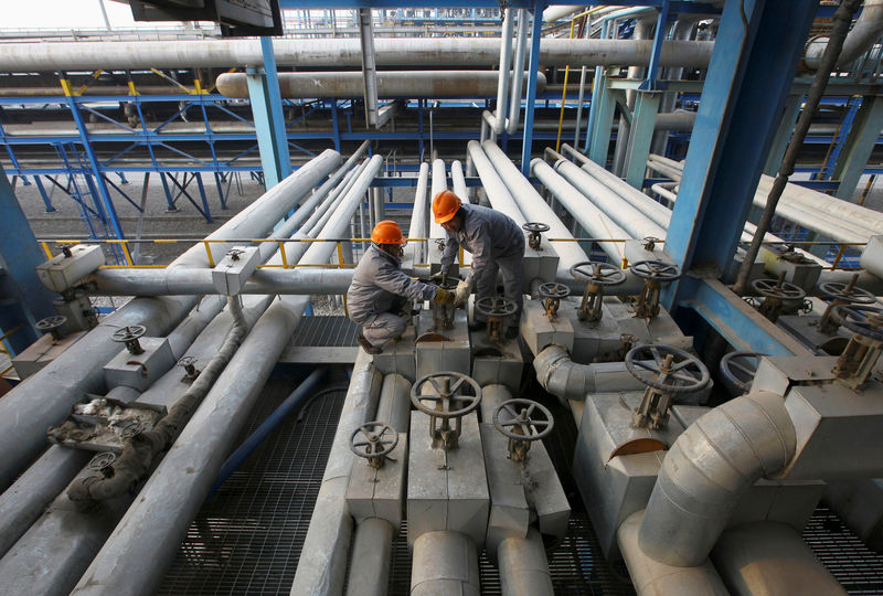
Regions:
<instances>
[{"instance_id":1,"label":"blue steel column at the left edge of the photo","mask_svg":"<svg viewBox=\"0 0 883 596\"><path fill-rule=\"evenodd\" d=\"M14 353L40 337L34 329L36 321L56 315L52 307L55 295L43 287L34 270L44 260L46 256L0 166L0 334L21 326L8 338Z\"/></svg>"}]
</instances>

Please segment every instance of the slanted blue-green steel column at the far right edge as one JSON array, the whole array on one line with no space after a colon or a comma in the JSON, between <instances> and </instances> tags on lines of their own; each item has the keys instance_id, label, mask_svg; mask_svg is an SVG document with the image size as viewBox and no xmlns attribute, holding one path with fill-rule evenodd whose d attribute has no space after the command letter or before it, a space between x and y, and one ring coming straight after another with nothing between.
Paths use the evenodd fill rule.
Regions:
<instances>
[{"instance_id":1,"label":"slanted blue-green steel column at the far right edge","mask_svg":"<svg viewBox=\"0 0 883 596\"><path fill-rule=\"evenodd\" d=\"M834 167L833 178L840 180L836 194L838 198L844 201L852 200L880 130L883 130L883 97L866 96L855 115L845 146Z\"/></svg>"}]
</instances>

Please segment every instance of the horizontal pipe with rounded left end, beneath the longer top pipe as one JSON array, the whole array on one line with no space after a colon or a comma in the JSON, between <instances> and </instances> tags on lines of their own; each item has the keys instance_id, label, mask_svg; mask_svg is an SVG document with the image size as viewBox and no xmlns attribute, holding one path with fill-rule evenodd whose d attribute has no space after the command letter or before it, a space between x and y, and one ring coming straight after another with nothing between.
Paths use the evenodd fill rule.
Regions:
<instances>
[{"instance_id":1,"label":"horizontal pipe with rounded left end, beneath the longer top pipe","mask_svg":"<svg viewBox=\"0 0 883 596\"><path fill-rule=\"evenodd\" d=\"M526 76L522 74L522 84ZM518 76L515 81L519 81ZM545 91L546 79L543 73L538 74L536 85L538 94ZM225 97L248 97L247 76L245 73L219 75L217 92ZM362 97L364 77L357 72L279 73L279 93L283 97ZM497 76L491 71L377 73L379 97L492 97L496 93Z\"/></svg>"}]
</instances>

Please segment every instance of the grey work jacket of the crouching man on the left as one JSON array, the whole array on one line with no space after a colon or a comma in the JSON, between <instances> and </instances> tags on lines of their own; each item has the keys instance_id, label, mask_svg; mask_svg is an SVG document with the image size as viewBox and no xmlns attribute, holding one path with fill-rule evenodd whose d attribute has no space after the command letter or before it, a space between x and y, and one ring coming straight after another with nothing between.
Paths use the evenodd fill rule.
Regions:
<instances>
[{"instance_id":1,"label":"grey work jacket of the crouching man on the left","mask_svg":"<svg viewBox=\"0 0 883 596\"><path fill-rule=\"evenodd\" d=\"M389 312L402 298L430 300L436 287L412 279L402 270L402 262L380 247L371 245L352 275L347 290L350 319L362 324L375 315Z\"/></svg>"}]
</instances>

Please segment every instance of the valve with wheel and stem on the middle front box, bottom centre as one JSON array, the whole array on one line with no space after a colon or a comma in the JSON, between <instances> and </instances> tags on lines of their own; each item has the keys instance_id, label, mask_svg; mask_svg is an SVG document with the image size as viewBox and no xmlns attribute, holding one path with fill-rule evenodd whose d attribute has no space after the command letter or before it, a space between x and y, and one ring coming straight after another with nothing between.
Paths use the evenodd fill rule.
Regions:
<instances>
[{"instance_id":1,"label":"valve with wheel and stem on the middle front box, bottom centre","mask_svg":"<svg viewBox=\"0 0 883 596\"><path fill-rule=\"evenodd\" d=\"M422 394L423 386L429 383L430 393ZM468 392L468 393L467 393ZM428 406L424 402L430 402ZM433 448L444 450L457 447L462 430L462 417L481 403L481 387L471 376L447 371L427 374L417 379L411 387L411 403L429 415L429 436ZM454 421L454 426L451 426Z\"/></svg>"}]
</instances>

